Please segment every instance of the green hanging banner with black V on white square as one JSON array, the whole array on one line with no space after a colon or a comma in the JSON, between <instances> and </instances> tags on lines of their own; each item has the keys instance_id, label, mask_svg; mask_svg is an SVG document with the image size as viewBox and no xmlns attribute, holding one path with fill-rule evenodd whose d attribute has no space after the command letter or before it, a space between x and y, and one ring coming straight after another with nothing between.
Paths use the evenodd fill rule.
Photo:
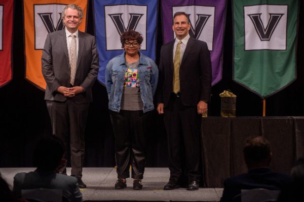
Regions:
<instances>
[{"instance_id":1,"label":"green hanging banner with black V on white square","mask_svg":"<svg viewBox=\"0 0 304 202\"><path fill-rule=\"evenodd\" d=\"M297 0L233 0L233 80L268 97L296 79Z\"/></svg>"}]
</instances>

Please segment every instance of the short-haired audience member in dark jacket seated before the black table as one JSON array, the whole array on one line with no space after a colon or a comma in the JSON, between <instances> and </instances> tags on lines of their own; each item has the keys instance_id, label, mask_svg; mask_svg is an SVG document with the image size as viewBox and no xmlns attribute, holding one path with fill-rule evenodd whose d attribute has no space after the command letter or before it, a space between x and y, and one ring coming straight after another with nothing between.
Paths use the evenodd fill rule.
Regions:
<instances>
[{"instance_id":1,"label":"short-haired audience member in dark jacket seated before the black table","mask_svg":"<svg viewBox=\"0 0 304 202\"><path fill-rule=\"evenodd\" d=\"M262 136L248 137L243 151L248 173L225 179L221 202L232 201L242 189L281 190L291 183L289 175L275 173L269 168L272 153L267 139Z\"/></svg>"}]
</instances>

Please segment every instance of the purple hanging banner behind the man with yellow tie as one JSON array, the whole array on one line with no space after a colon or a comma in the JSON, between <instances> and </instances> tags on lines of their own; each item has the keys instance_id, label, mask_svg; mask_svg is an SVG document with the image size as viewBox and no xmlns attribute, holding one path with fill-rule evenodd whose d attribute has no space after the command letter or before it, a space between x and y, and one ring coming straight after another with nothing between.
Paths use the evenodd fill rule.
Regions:
<instances>
[{"instance_id":1,"label":"purple hanging banner behind the man with yellow tie","mask_svg":"<svg viewBox=\"0 0 304 202\"><path fill-rule=\"evenodd\" d=\"M212 85L216 84L222 78L226 0L162 1L164 43L175 37L172 24L176 12L185 12L189 16L190 36L208 44L212 65Z\"/></svg>"}]
</instances>

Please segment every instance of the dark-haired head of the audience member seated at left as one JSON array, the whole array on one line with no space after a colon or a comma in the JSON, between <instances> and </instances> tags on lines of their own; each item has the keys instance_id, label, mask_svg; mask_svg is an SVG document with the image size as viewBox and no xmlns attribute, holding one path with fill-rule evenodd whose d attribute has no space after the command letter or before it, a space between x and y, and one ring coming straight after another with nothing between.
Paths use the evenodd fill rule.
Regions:
<instances>
[{"instance_id":1,"label":"dark-haired head of the audience member seated at left","mask_svg":"<svg viewBox=\"0 0 304 202\"><path fill-rule=\"evenodd\" d=\"M43 138L34 150L33 164L37 169L55 171L64 154L62 141L52 135Z\"/></svg>"}]
</instances>

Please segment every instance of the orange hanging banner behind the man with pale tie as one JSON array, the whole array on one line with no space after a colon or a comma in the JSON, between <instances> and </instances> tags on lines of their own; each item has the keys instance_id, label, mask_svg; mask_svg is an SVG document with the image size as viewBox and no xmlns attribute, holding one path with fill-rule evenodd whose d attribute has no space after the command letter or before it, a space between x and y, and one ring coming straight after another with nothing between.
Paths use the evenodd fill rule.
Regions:
<instances>
[{"instance_id":1,"label":"orange hanging banner behind the man with pale tie","mask_svg":"<svg viewBox=\"0 0 304 202\"><path fill-rule=\"evenodd\" d=\"M42 49L47 34L64 29L61 13L68 4L76 4L84 11L79 27L86 30L88 2L83 0L24 0L25 78L35 86L45 89L41 73Z\"/></svg>"}]
</instances>

